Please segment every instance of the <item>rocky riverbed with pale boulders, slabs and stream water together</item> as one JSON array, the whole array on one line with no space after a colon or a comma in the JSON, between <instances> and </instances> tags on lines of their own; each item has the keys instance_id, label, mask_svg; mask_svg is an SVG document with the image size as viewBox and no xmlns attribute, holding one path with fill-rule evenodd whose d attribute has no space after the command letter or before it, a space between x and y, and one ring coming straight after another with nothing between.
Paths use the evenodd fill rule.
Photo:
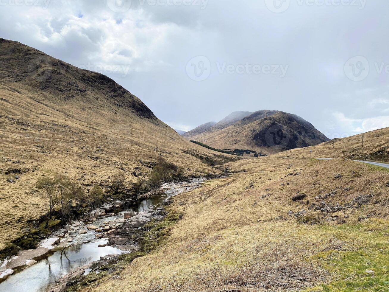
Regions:
<instances>
[{"instance_id":1,"label":"rocky riverbed with pale boulders, slabs and stream water together","mask_svg":"<svg viewBox=\"0 0 389 292\"><path fill-rule=\"evenodd\" d=\"M90 271L97 273L107 260L139 250L140 227L153 218L162 220L170 197L196 188L203 181L204 178L198 178L164 184L143 195L140 201L125 202L124 209L112 202L84 222L72 222L42 241L39 248L21 251L0 263L0 291L62 291L68 281Z\"/></svg>"}]
</instances>

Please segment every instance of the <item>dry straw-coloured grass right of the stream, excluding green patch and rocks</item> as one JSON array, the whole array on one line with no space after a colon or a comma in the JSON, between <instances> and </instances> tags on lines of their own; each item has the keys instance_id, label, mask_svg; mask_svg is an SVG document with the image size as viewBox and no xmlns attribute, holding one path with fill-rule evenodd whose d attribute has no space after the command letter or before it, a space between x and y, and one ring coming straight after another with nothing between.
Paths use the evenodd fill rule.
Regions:
<instances>
[{"instance_id":1,"label":"dry straw-coloured grass right of the stream, excluding green patch and rocks","mask_svg":"<svg viewBox=\"0 0 389 292\"><path fill-rule=\"evenodd\" d=\"M289 218L289 209L307 210L306 204L291 201L291 196L301 191L316 202L316 195L338 187L338 193L326 200L336 204L371 192L379 201L388 192L384 181L389 173L351 161L266 157L226 166L246 172L207 181L176 197L173 208L184 218L173 227L168 243L126 267L120 281L105 280L87 290L293 291L312 287L332 276L323 271L320 262L310 260L313 255L353 251L363 246L365 239L358 230L343 232L335 223L309 225ZM290 172L301 174L286 176ZM337 173L343 175L341 179L334 178ZM290 185L280 185L286 182ZM254 187L246 188L250 183ZM343 191L346 186L350 188L347 192ZM264 194L269 195L262 198ZM352 226L357 217L377 206L372 202L346 212L350 216L347 222ZM279 215L287 219L274 220Z\"/></svg>"}]
</instances>

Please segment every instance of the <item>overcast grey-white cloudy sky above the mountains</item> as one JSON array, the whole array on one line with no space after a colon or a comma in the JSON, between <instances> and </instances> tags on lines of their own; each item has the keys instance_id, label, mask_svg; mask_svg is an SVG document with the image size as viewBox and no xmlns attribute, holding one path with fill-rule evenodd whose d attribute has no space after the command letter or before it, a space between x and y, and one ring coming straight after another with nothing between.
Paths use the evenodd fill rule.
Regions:
<instances>
[{"instance_id":1,"label":"overcast grey-white cloudy sky above the mountains","mask_svg":"<svg viewBox=\"0 0 389 292\"><path fill-rule=\"evenodd\" d=\"M168 125L281 110L389 126L387 0L0 0L0 37L102 72Z\"/></svg>"}]
</instances>

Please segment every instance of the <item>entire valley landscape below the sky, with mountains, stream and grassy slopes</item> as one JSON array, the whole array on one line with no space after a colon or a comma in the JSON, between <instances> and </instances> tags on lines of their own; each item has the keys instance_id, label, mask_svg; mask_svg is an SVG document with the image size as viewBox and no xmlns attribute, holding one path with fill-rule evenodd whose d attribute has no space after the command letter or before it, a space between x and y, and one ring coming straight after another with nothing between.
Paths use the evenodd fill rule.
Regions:
<instances>
[{"instance_id":1,"label":"entire valley landscape below the sky, with mountains, stream and grassy slopes","mask_svg":"<svg viewBox=\"0 0 389 292\"><path fill-rule=\"evenodd\" d=\"M389 128L180 135L102 74L5 39L0 65L1 291L389 289L389 171L354 161L389 162Z\"/></svg>"}]
</instances>

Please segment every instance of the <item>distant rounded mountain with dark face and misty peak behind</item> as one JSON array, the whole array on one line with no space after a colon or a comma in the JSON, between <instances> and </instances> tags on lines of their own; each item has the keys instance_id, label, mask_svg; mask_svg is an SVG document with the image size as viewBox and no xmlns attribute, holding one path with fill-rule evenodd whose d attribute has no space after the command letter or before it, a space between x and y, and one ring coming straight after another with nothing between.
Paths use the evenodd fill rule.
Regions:
<instances>
[{"instance_id":1,"label":"distant rounded mountain with dark face and misty peak behind","mask_svg":"<svg viewBox=\"0 0 389 292\"><path fill-rule=\"evenodd\" d=\"M214 148L249 149L266 155L328 141L311 123L295 114L268 110L247 113L232 113L208 130L199 134L192 130L184 137Z\"/></svg>"}]
</instances>

